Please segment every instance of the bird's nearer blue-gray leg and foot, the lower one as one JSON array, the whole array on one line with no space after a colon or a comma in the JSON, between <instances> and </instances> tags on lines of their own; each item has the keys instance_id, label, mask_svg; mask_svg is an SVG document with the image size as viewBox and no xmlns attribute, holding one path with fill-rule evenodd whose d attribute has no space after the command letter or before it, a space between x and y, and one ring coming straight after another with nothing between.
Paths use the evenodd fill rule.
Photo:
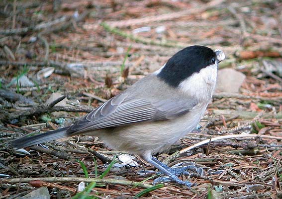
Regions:
<instances>
[{"instance_id":1,"label":"bird's nearer blue-gray leg and foot, the lower one","mask_svg":"<svg viewBox=\"0 0 282 199\"><path fill-rule=\"evenodd\" d=\"M162 171L163 174L168 176L168 177L165 177L165 178L161 177L161 178L155 179L153 184L158 184L158 183L162 183L162 182L176 182L177 184L185 185L189 188L193 185L193 183L191 183L189 181L180 180L177 177L177 175L175 175L174 172L172 172L172 169L169 166L161 163L157 159L150 157L150 158L146 158L145 160L147 160L151 165L153 165L154 167L156 167L157 169Z\"/></svg>"}]
</instances>

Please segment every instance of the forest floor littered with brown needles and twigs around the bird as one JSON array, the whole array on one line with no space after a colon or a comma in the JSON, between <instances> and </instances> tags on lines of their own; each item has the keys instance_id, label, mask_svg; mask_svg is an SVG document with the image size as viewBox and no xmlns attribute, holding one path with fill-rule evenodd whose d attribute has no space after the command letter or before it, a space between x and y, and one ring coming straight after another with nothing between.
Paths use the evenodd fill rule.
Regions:
<instances>
[{"instance_id":1,"label":"forest floor littered with brown needles and twigs around the bird","mask_svg":"<svg viewBox=\"0 0 282 199\"><path fill-rule=\"evenodd\" d=\"M2 0L0 25L0 199L37 187L52 199L282 198L282 1ZM9 145L73 124L194 44L222 50L219 69L246 77L239 92L214 93L199 130L157 154L203 168L180 177L191 189L153 186L154 167L95 137ZM82 182L96 184L77 194Z\"/></svg>"}]
</instances>

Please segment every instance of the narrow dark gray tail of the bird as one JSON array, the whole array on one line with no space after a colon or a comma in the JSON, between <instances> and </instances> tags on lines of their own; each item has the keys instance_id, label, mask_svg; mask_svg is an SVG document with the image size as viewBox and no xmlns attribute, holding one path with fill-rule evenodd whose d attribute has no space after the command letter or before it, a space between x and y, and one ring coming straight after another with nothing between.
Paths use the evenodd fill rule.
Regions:
<instances>
[{"instance_id":1,"label":"narrow dark gray tail of the bird","mask_svg":"<svg viewBox=\"0 0 282 199\"><path fill-rule=\"evenodd\" d=\"M69 127L57 129L55 131L50 131L50 132L33 135L33 136L25 135L23 137L13 140L11 142L11 145L14 148L24 148L24 147L32 146L32 145L39 144L42 142L47 142L47 141L59 139L62 137L67 137L71 135L71 133L67 133L68 128Z\"/></svg>"}]
</instances>

